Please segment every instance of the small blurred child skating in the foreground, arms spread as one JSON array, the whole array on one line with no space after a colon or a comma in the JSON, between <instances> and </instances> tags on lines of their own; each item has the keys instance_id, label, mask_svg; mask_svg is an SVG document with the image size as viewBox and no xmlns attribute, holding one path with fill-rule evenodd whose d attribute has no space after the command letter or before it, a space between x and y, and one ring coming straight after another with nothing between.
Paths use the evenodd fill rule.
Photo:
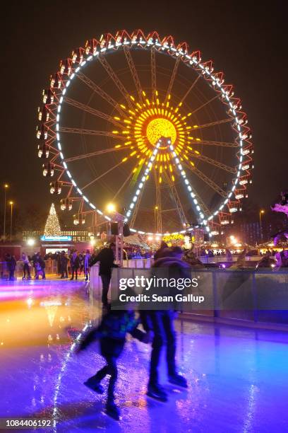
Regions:
<instances>
[{"instance_id":1,"label":"small blurred child skating in the foreground, arms spread","mask_svg":"<svg viewBox=\"0 0 288 433\"><path fill-rule=\"evenodd\" d=\"M136 321L133 311L109 311L103 316L100 326L90 330L78 347L78 352L80 352L88 347L91 342L100 340L101 354L107 364L97 371L94 376L85 381L84 384L93 391L102 394L104 393L104 388L101 385L101 381L107 374L110 375L105 411L114 420L119 420L120 417L120 411L115 404L114 396L118 375L116 360L124 350L126 334L130 333L142 342L149 342L150 340L150 334L143 333L137 326L138 321Z\"/></svg>"}]
</instances>

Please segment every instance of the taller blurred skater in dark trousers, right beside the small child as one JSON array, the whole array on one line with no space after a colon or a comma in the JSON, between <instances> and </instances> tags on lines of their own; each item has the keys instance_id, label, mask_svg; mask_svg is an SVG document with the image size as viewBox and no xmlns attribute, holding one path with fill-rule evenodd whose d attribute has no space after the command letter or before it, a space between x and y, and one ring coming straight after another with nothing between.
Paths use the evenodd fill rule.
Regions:
<instances>
[{"instance_id":1,"label":"taller blurred skater in dark trousers, right beside the small child","mask_svg":"<svg viewBox=\"0 0 288 433\"><path fill-rule=\"evenodd\" d=\"M155 274L155 268L167 268L169 278L189 278L190 268L184 263L178 255L178 250L172 248L164 249L165 257L159 258L154 262L152 267L152 275ZM155 310L155 311L140 311L140 317L143 323L143 328L146 332L154 333L152 340L152 352L150 359L150 374L148 381L147 395L160 401L167 401L167 393L159 383L158 366L160 362L160 354L164 345L166 345L167 353L167 370L168 380L176 386L187 388L186 379L181 376L176 367L176 335L174 330L175 311L173 310Z\"/></svg>"}]
</instances>

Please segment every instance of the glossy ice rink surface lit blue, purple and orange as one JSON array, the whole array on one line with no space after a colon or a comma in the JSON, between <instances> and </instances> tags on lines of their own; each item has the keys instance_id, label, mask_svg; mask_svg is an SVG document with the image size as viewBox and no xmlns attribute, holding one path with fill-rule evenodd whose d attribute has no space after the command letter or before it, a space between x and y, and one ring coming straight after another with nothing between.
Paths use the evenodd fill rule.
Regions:
<instances>
[{"instance_id":1,"label":"glossy ice rink surface lit blue, purple and orange","mask_svg":"<svg viewBox=\"0 0 288 433\"><path fill-rule=\"evenodd\" d=\"M150 346L129 337L116 385L122 417L109 418L105 394L83 385L104 364L97 343L73 352L78 330L100 319L98 297L83 281L1 283L0 417L51 419L43 432L288 432L288 334L183 320L177 361L188 390L167 383L163 357L169 401L146 397Z\"/></svg>"}]
</instances>

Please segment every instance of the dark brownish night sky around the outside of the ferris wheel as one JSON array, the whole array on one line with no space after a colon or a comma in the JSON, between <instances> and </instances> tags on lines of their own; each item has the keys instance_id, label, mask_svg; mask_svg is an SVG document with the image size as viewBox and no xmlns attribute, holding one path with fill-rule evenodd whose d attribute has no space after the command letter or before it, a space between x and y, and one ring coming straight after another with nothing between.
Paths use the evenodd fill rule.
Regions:
<instances>
[{"instance_id":1,"label":"dark brownish night sky around the outside of the ferris wheel","mask_svg":"<svg viewBox=\"0 0 288 433\"><path fill-rule=\"evenodd\" d=\"M8 198L18 206L40 202L49 208L54 197L36 154L42 89L74 47L121 28L172 34L176 42L186 40L191 51L199 49L203 59L213 59L226 83L234 84L252 128L249 199L269 206L288 188L285 2L273 1L268 8L251 1L185 3L9 1L2 8L0 180L11 183Z\"/></svg>"}]
</instances>

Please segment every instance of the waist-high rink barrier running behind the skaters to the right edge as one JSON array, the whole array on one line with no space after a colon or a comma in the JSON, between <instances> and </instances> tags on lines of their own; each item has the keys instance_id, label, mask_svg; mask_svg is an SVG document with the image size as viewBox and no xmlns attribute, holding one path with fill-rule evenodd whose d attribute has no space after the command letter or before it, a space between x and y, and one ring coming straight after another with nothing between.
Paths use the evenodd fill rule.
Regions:
<instances>
[{"instance_id":1,"label":"waist-high rink barrier running behind the skaters to the right edge","mask_svg":"<svg viewBox=\"0 0 288 433\"><path fill-rule=\"evenodd\" d=\"M100 291L102 284L98 275L99 267L93 266L90 272L90 287ZM135 267L128 274L127 268L114 270L117 279L150 276L147 267ZM260 328L288 330L288 270L241 270L210 268L191 270L191 278L200 279L196 295L205 296L207 302L201 306L182 311L186 318L205 321L259 325ZM115 280L112 284L115 284Z\"/></svg>"}]
</instances>

